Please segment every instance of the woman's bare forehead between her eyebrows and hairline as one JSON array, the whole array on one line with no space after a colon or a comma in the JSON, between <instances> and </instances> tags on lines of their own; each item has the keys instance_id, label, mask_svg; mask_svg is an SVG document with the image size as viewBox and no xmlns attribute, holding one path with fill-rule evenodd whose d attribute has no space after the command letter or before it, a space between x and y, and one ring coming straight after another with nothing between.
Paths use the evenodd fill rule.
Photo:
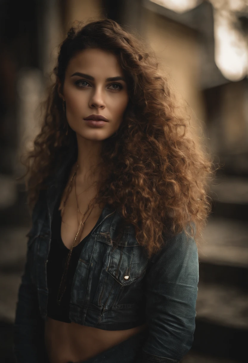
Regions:
<instances>
[{"instance_id":1,"label":"woman's bare forehead between her eyebrows and hairline","mask_svg":"<svg viewBox=\"0 0 248 363\"><path fill-rule=\"evenodd\" d=\"M70 77L74 72L104 78L123 76L118 57L109 51L98 48L84 49L75 54L68 63L66 74Z\"/></svg>"}]
</instances>

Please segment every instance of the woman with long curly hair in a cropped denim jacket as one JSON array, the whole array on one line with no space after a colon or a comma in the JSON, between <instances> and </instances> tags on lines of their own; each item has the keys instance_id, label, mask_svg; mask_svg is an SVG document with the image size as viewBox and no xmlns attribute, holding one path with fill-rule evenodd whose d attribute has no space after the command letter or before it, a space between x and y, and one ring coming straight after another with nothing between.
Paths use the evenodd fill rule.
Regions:
<instances>
[{"instance_id":1,"label":"woman with long curly hair in a cropped denim jacket","mask_svg":"<svg viewBox=\"0 0 248 363\"><path fill-rule=\"evenodd\" d=\"M180 131L154 57L115 21L71 28L54 73L27 158L17 362L179 362L212 164Z\"/></svg>"}]
</instances>

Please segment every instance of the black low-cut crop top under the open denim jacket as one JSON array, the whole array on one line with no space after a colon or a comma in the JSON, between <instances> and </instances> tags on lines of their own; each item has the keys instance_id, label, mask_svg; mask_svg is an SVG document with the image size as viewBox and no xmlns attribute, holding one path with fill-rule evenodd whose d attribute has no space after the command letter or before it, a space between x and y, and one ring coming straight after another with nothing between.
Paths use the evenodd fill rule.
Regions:
<instances>
[{"instance_id":1,"label":"black low-cut crop top under the open denim jacket","mask_svg":"<svg viewBox=\"0 0 248 363\"><path fill-rule=\"evenodd\" d=\"M62 296L60 304L58 305L58 288L64 271L66 258L70 251L64 245L61 239L61 213L58 210L61 197L62 194L59 196L58 201L54 207L51 224L51 246L46 265L48 287L47 316L55 320L70 323L69 302L71 296L71 286L80 253L88 237L90 236L90 233L84 237L83 240L72 250L71 260L67 271L66 290Z\"/></svg>"}]
</instances>

